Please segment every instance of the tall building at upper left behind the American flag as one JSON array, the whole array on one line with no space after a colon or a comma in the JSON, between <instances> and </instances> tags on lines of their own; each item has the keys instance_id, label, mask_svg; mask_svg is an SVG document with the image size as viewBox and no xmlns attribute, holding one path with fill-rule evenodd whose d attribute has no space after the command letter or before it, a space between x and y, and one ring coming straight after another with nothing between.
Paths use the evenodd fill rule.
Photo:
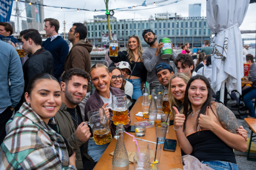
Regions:
<instances>
[{"instance_id":1,"label":"tall building at upper left behind the American flag","mask_svg":"<svg viewBox=\"0 0 256 170\"><path fill-rule=\"evenodd\" d=\"M26 14L29 18L27 19L27 29L36 29L38 31L44 30L44 9L41 5L38 4L44 4L43 0L25 0L25 5L28 7L26 8ZM29 3L35 3L35 5L29 5Z\"/></svg>"}]
</instances>

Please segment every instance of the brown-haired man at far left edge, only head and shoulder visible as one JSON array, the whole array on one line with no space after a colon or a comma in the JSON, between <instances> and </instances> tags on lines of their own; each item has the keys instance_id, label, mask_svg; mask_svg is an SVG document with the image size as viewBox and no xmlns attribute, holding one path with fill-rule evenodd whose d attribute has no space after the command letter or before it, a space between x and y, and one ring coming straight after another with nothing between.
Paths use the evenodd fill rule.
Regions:
<instances>
[{"instance_id":1,"label":"brown-haired man at far left edge, only head and shoulder visible","mask_svg":"<svg viewBox=\"0 0 256 170\"><path fill-rule=\"evenodd\" d=\"M3 38L11 38L11 41L13 43L19 42L15 37L12 35L13 29L12 25L8 24L6 22L0 22L0 39L3 40Z\"/></svg>"}]
</instances>

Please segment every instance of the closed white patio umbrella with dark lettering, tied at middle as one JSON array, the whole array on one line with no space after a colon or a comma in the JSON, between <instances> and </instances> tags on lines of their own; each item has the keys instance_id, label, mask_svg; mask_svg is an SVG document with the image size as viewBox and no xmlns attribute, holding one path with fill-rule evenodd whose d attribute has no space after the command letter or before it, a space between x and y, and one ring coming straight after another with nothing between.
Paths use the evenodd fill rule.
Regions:
<instances>
[{"instance_id":1,"label":"closed white patio umbrella with dark lettering, tied at middle","mask_svg":"<svg viewBox=\"0 0 256 170\"><path fill-rule=\"evenodd\" d=\"M240 94L243 72L243 42L239 26L242 24L250 0L207 0L207 23L215 34L212 39L212 82L214 92L221 87L220 101L224 101L224 82L230 93Z\"/></svg>"}]
</instances>

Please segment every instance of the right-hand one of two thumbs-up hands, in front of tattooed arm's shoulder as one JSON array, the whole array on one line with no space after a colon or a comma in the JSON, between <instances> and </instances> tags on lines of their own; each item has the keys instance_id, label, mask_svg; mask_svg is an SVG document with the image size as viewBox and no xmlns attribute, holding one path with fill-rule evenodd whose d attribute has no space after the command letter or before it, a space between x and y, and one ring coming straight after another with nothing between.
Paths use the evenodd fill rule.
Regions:
<instances>
[{"instance_id":1,"label":"right-hand one of two thumbs-up hands, in front of tattooed arm's shoulder","mask_svg":"<svg viewBox=\"0 0 256 170\"><path fill-rule=\"evenodd\" d=\"M214 119L212 118L212 114L210 111L210 106L206 108L206 115L200 114L198 118L198 124L203 129L211 130L212 127L215 125Z\"/></svg>"}]
</instances>

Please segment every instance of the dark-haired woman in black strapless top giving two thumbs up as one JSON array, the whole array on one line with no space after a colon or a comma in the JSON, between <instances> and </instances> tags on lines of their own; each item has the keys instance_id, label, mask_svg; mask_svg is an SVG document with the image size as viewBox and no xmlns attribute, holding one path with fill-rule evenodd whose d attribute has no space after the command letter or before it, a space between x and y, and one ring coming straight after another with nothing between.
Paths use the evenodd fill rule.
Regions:
<instances>
[{"instance_id":1,"label":"dark-haired woman in black strapless top giving two thumbs up","mask_svg":"<svg viewBox=\"0 0 256 170\"><path fill-rule=\"evenodd\" d=\"M211 95L211 85L206 77L194 76L188 81L184 114L179 114L174 107L174 129L180 148L212 169L238 170L233 149L245 152L247 144L236 133L235 115L221 103L211 104Z\"/></svg>"}]
</instances>

